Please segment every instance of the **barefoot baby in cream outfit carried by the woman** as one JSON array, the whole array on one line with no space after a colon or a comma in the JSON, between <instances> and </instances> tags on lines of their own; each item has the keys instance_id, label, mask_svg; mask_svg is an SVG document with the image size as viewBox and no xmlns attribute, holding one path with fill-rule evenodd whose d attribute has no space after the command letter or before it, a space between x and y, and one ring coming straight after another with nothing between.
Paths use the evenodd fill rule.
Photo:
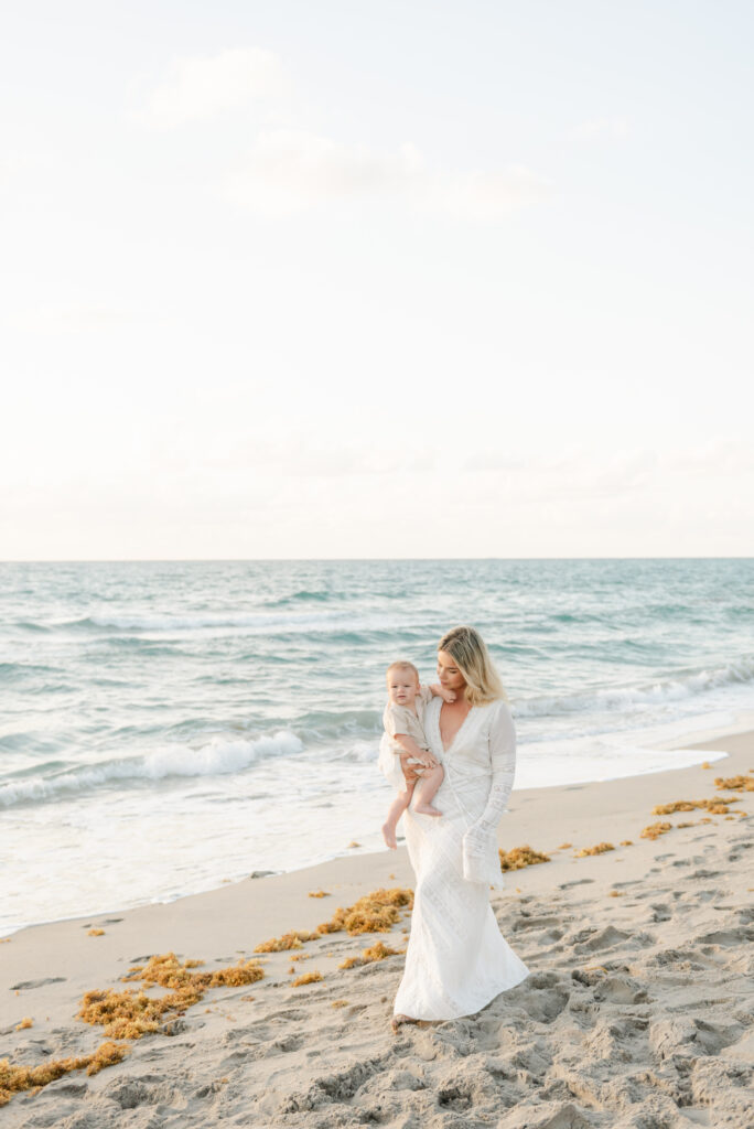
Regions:
<instances>
[{"instance_id":1,"label":"barefoot baby in cream outfit carried by the woman","mask_svg":"<svg viewBox=\"0 0 754 1129\"><path fill-rule=\"evenodd\" d=\"M423 729L424 706L435 697L456 700L451 690L440 685L422 686L413 663L392 663L387 668L387 706L383 718L393 753L400 758L405 788L398 793L383 825L385 842L395 850L397 822L417 793L413 811L420 815L441 815L432 799L442 784L445 771L429 751Z\"/></svg>"}]
</instances>

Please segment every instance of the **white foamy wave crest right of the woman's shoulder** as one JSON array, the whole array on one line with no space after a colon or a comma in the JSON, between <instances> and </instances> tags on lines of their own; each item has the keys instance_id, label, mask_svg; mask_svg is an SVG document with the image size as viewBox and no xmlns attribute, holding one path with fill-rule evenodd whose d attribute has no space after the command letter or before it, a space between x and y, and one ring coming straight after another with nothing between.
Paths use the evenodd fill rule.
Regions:
<instances>
[{"instance_id":1,"label":"white foamy wave crest right of the woman's shoulder","mask_svg":"<svg viewBox=\"0 0 754 1129\"><path fill-rule=\"evenodd\" d=\"M558 714L588 714L594 710L630 709L632 706L661 704L682 701L721 686L754 681L754 660L740 659L710 671L681 675L665 682L596 690L591 694L562 694L518 699L512 711L516 717L552 717Z\"/></svg>"}]
</instances>

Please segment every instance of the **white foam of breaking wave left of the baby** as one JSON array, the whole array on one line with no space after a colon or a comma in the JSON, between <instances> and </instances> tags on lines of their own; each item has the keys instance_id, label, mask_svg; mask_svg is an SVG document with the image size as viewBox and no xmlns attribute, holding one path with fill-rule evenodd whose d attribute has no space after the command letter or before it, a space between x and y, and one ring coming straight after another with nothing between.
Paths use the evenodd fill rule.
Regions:
<instances>
[{"instance_id":1,"label":"white foam of breaking wave left of the baby","mask_svg":"<svg viewBox=\"0 0 754 1129\"><path fill-rule=\"evenodd\" d=\"M303 742L286 729L255 741L214 737L200 749L166 745L144 756L107 761L59 776L8 781L0 786L0 804L10 807L14 804L40 803L65 794L102 788L115 781L226 776L242 772L263 758L292 756L303 750Z\"/></svg>"}]
</instances>

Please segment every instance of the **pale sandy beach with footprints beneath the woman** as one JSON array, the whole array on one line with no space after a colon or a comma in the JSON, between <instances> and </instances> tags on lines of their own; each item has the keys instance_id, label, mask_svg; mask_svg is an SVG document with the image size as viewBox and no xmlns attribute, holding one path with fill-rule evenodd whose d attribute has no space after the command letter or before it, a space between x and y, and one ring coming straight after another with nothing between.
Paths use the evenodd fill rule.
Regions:
<instances>
[{"instance_id":1,"label":"pale sandy beach with footprints beneath the woman","mask_svg":"<svg viewBox=\"0 0 754 1129\"><path fill-rule=\"evenodd\" d=\"M195 1001L165 1010L156 1032L114 1038L122 1061L9 1100L6 1092L0 1122L745 1129L754 1109L754 791L745 780L714 780L748 778L751 789L754 734L700 747L728 756L514 793L501 848L526 844L550 861L509 872L492 903L532 974L463 1019L392 1034L410 926L400 896L388 931L316 934L321 922L343 924L339 907L410 890L403 849L14 934L0 944L0 1058L11 1067L50 1067L112 1042L103 1025L77 1017L84 997L142 989L143 979L121 978L155 955L174 953L178 970L203 962L183 966L178 980L233 966L246 969L247 982L192 981ZM716 796L731 802L716 807ZM680 800L711 809L652 813ZM598 844L613 849L579 855ZM119 904L116 890L107 902ZM290 930L316 938L254 952ZM397 952L362 962L376 942ZM295 986L305 973L321 979ZM146 989L154 999L169 991ZM0 1068L0 1086L15 1077Z\"/></svg>"}]
</instances>

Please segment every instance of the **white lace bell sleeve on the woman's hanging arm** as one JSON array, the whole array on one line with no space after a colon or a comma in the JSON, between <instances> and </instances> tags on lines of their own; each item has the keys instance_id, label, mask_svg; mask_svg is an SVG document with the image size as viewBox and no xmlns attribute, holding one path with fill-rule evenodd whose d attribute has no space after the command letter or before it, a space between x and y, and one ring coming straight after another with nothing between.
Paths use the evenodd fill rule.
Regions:
<instances>
[{"instance_id":1,"label":"white lace bell sleeve on the woman's hanging arm","mask_svg":"<svg viewBox=\"0 0 754 1129\"><path fill-rule=\"evenodd\" d=\"M500 702L490 727L490 761L492 776L484 811L463 839L464 878L500 885L497 863L497 828L508 807L508 797L516 774L516 729L510 709ZM497 865L491 865L490 860Z\"/></svg>"}]
</instances>

